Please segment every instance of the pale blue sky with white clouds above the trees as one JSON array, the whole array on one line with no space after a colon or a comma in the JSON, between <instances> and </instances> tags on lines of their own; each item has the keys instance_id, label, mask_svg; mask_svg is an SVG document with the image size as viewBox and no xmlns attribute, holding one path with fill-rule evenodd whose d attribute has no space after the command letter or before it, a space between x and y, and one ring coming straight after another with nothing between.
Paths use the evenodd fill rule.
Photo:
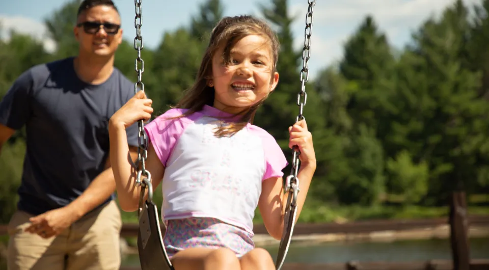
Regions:
<instances>
[{"instance_id":1,"label":"pale blue sky with white clouds above the trees","mask_svg":"<svg viewBox=\"0 0 489 270\"><path fill-rule=\"evenodd\" d=\"M42 40L47 49L55 45L46 38L44 18L61 8L70 0L17 0L1 1L0 24L4 28L2 37L8 38L5 29L15 29L20 33L31 34ZM124 37L133 40L134 1L114 0L122 17ZM197 14L204 0L143 0L142 34L145 48L154 48L165 32L189 24ZM464 0L467 5L480 3L480 0ZM259 7L269 5L271 0L223 0L225 16L251 14L262 17ZM424 20L453 5L454 0L317 0L314 7L314 22L311 37L311 59L309 70L311 78L321 69L341 60L343 44L357 30L365 16L372 15L379 29L389 42L402 48L411 40ZM307 0L288 0L289 13L296 16L292 26L294 46L304 46ZM279 63L280 64L280 63ZM297 79L299 74L297 74Z\"/></svg>"}]
</instances>

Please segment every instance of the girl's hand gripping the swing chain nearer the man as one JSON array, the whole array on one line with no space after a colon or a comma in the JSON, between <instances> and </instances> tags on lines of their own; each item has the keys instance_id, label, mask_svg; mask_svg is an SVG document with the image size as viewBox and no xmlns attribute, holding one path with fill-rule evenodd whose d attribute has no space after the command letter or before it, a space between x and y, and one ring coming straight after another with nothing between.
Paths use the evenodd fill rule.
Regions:
<instances>
[{"instance_id":1,"label":"girl's hand gripping the swing chain nearer the man","mask_svg":"<svg viewBox=\"0 0 489 270\"><path fill-rule=\"evenodd\" d=\"M144 91L139 91L111 117L112 125L126 129L141 119L148 121L153 113L152 103Z\"/></svg>"}]
</instances>

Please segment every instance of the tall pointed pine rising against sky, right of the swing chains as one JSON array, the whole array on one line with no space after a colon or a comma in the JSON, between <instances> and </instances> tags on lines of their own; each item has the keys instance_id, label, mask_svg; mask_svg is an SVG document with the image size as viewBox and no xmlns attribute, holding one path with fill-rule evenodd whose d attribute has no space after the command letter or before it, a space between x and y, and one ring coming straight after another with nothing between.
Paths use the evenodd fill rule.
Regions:
<instances>
[{"instance_id":1,"label":"tall pointed pine rising against sky, right of the swing chains","mask_svg":"<svg viewBox=\"0 0 489 270\"><path fill-rule=\"evenodd\" d=\"M385 193L385 151L395 93L395 60L384 34L367 16L345 44L339 72L347 84L343 92L351 128L344 146L350 173L338 186L344 203L376 204ZM338 111L341 112L341 111ZM347 118L345 118L347 119ZM331 120L330 120L331 121Z\"/></svg>"}]
</instances>

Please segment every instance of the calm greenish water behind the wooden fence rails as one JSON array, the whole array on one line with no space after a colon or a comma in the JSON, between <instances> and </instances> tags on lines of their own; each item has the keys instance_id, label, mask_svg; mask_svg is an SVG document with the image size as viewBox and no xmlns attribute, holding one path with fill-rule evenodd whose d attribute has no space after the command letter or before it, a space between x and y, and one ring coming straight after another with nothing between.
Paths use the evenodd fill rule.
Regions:
<instances>
[{"instance_id":1,"label":"calm greenish water behind the wooden fence rails","mask_svg":"<svg viewBox=\"0 0 489 270\"><path fill-rule=\"evenodd\" d=\"M278 246L264 247L273 258ZM489 238L470 239L472 259L489 259ZM291 244L285 262L344 263L356 261L409 262L431 259L451 260L449 239L407 240L394 242L328 242ZM137 254L126 256L124 266L139 266Z\"/></svg>"}]
</instances>

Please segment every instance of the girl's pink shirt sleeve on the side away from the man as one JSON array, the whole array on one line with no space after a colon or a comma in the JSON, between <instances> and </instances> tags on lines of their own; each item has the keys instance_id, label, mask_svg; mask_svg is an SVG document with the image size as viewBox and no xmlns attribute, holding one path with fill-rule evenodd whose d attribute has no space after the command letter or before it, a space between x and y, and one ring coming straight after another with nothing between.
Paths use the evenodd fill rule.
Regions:
<instances>
[{"instance_id":1,"label":"girl's pink shirt sleeve on the side away from the man","mask_svg":"<svg viewBox=\"0 0 489 270\"><path fill-rule=\"evenodd\" d=\"M270 177L283 177L282 170L288 165L284 152L274 137L268 133L266 135L262 137L265 153L265 173L262 180Z\"/></svg>"}]
</instances>

